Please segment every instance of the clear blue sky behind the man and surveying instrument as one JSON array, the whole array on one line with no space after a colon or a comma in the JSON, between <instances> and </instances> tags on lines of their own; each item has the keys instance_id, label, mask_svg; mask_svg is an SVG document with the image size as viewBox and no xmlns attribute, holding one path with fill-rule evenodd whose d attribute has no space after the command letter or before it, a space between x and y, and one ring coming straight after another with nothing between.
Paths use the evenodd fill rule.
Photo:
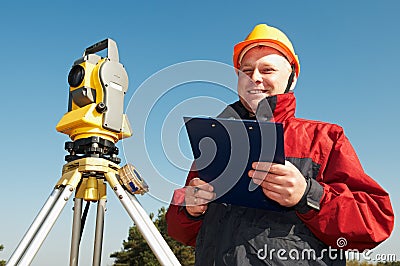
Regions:
<instances>
[{"instance_id":1,"label":"clear blue sky behind the man and surveying instrument","mask_svg":"<svg viewBox=\"0 0 400 266\"><path fill-rule=\"evenodd\" d=\"M149 180L152 194L138 197L146 211L167 205L159 200L172 195L165 180L184 182L191 155L182 116L212 116L236 100L234 73L227 71L233 45L254 25L268 23L289 35L299 55L297 116L343 126L365 171L400 213L398 1L8 1L0 10L0 259L11 255L60 177L68 136L55 125L66 112L69 69L86 47L107 37L117 42L129 75L125 100L134 135L118 145L123 161ZM211 68L189 82L193 73L176 64L193 60L212 61ZM212 67L222 67L233 82L216 81ZM176 86L163 87L170 81L163 74L171 71ZM132 225L110 190L107 206L103 265L111 265L109 254L122 247ZM68 265L71 208L72 201L32 265ZM95 209L82 265L91 261ZM396 223L375 254L400 260L399 250Z\"/></svg>"}]
</instances>

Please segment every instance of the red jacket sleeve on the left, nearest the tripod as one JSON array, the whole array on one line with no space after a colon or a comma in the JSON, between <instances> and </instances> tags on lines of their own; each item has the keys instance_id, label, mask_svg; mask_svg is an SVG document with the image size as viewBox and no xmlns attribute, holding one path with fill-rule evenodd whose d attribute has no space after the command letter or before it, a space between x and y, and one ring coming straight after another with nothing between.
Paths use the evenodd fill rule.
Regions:
<instances>
[{"instance_id":1,"label":"red jacket sleeve on the left, nearest the tripod","mask_svg":"<svg viewBox=\"0 0 400 266\"><path fill-rule=\"evenodd\" d=\"M191 170L186 179L185 186L197 176L197 172ZM195 246L197 233L200 230L203 220L201 218L189 217L184 208L185 188L180 188L174 191L171 204L166 213L168 235L185 245Z\"/></svg>"}]
</instances>

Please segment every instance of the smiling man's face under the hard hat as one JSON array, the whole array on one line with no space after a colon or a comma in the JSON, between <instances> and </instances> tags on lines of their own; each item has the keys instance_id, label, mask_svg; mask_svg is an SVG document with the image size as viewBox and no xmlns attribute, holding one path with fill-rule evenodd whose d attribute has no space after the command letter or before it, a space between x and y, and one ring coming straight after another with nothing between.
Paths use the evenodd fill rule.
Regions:
<instances>
[{"instance_id":1,"label":"smiling man's face under the hard hat","mask_svg":"<svg viewBox=\"0 0 400 266\"><path fill-rule=\"evenodd\" d=\"M238 94L240 101L251 113L255 113L260 100L285 92L292 72L282 54L267 46L250 49L239 68ZM292 88L296 78L293 79Z\"/></svg>"}]
</instances>

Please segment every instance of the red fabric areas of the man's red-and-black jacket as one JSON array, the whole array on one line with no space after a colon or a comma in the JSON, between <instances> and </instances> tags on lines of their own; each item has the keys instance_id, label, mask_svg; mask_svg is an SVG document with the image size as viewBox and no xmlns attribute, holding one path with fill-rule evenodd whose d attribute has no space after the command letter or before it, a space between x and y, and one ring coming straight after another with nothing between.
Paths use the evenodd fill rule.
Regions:
<instances>
[{"instance_id":1,"label":"red fabric areas of the man's red-and-black jacket","mask_svg":"<svg viewBox=\"0 0 400 266\"><path fill-rule=\"evenodd\" d=\"M364 172L343 129L334 124L296 118L293 93L273 98L273 104L270 103L272 121L284 124L286 157L312 161L308 168L313 171L314 195L305 197L309 196L312 201L315 191L320 191L317 206L310 204L311 207L305 209L303 206L302 211L294 208L293 213L317 239L334 248L343 247L338 246L340 238L347 240L344 249L359 250L371 249L387 239L394 224L389 195ZM304 175L307 171L301 172ZM196 171L190 171L186 185L194 177L197 177ZM191 219L183 211L184 190L174 192L166 215L168 233L194 246L203 219ZM207 215L210 215L208 211L204 219Z\"/></svg>"}]
</instances>

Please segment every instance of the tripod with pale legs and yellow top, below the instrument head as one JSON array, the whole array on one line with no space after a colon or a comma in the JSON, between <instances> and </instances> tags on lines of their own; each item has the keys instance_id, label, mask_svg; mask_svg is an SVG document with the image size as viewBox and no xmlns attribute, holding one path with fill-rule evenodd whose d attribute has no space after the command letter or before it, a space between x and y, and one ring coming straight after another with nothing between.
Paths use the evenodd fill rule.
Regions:
<instances>
[{"instance_id":1,"label":"tripod with pale legs and yellow top, below the instrument head","mask_svg":"<svg viewBox=\"0 0 400 266\"><path fill-rule=\"evenodd\" d=\"M147 185L138 173L129 166L120 167L118 148L111 141L100 137L89 137L66 142L62 177L55 185L46 203L25 233L7 265L29 265L61 211L75 191L70 265L77 266L79 245L84 226L82 202L97 202L96 229L93 265L101 263L104 213L106 205L106 183L110 185L153 253L162 265L180 265L168 244L137 201L133 193L143 194ZM129 176L131 174L131 176Z\"/></svg>"}]
</instances>

